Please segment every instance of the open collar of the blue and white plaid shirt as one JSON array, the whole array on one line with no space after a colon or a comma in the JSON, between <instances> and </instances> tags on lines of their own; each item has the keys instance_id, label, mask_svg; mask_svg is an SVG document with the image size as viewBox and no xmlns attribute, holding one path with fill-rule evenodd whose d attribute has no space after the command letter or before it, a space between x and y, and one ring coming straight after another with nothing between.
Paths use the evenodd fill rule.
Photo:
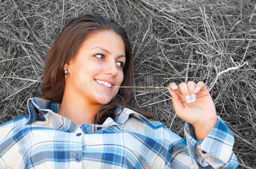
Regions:
<instances>
[{"instance_id":1,"label":"open collar of the blue and white plaid shirt","mask_svg":"<svg viewBox=\"0 0 256 169\"><path fill-rule=\"evenodd\" d=\"M46 100L46 99L41 99L39 97L31 97L27 101L27 106L29 110L29 119L27 124L32 124L36 121L45 121L44 114L50 113L51 117L54 117L54 122L56 121L61 121L59 122L59 126L55 126L53 124L54 128L66 128L65 130L72 130L71 128L76 128L77 125L72 122L70 119L63 117L62 115L57 114L59 108L61 107L61 104L59 103L54 103L53 101ZM118 106L115 114L118 114L122 111L122 106ZM146 117L143 115L135 112L134 110L131 110L129 108L124 108L123 111L118 115L116 118L112 119L111 117L106 118L105 122L103 124L95 124L97 126L113 126L113 125L120 125L125 123L129 119L129 115L132 115L136 118L139 118L140 120L151 123L153 126L153 122L148 120ZM52 121L53 122L53 121ZM56 122L57 123L57 122ZM62 123L62 124L61 124ZM65 127L63 123L69 123L69 127Z\"/></svg>"}]
</instances>

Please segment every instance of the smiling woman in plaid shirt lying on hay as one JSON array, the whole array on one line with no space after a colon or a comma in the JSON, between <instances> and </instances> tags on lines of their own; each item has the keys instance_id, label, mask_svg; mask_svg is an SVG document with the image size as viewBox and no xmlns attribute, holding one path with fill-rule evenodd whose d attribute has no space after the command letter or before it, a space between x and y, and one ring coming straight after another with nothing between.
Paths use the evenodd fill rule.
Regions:
<instances>
[{"instance_id":1,"label":"smiling woman in plaid shirt lying on hay","mask_svg":"<svg viewBox=\"0 0 256 169\"><path fill-rule=\"evenodd\" d=\"M186 141L127 105L133 59L125 30L103 17L70 21L45 61L29 116L0 127L0 168L236 168L234 137L203 82L169 84Z\"/></svg>"}]
</instances>

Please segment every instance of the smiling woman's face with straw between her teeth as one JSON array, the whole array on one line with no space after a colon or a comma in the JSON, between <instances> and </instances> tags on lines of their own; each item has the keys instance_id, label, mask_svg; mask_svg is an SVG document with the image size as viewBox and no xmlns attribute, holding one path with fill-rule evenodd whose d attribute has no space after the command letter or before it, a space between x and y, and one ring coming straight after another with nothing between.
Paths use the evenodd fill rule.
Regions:
<instances>
[{"instance_id":1,"label":"smiling woman's face with straw between her teeth","mask_svg":"<svg viewBox=\"0 0 256 169\"><path fill-rule=\"evenodd\" d=\"M123 81L125 45L120 35L110 30L89 34L78 54L70 61L66 78L72 92L92 104L107 104L116 96Z\"/></svg>"}]
</instances>

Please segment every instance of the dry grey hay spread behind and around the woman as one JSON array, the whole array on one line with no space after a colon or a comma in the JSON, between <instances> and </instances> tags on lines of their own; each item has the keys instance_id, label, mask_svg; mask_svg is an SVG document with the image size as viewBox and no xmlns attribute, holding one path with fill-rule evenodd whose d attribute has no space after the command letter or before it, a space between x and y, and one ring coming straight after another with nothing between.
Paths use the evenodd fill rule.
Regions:
<instances>
[{"instance_id":1,"label":"dry grey hay spread behind and around the woman","mask_svg":"<svg viewBox=\"0 0 256 169\"><path fill-rule=\"evenodd\" d=\"M46 52L73 17L115 19L130 37L133 86L203 81L231 128L240 168L255 168L255 1L0 1L0 119L28 114L40 92ZM184 137L165 89L136 88L131 105Z\"/></svg>"}]
</instances>

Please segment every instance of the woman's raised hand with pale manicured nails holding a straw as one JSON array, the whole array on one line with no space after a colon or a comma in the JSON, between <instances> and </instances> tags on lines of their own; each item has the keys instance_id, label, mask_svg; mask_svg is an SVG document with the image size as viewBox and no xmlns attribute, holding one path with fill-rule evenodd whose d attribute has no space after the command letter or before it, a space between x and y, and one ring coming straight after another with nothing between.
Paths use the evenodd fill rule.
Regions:
<instances>
[{"instance_id":1,"label":"woman's raised hand with pale manicured nails holding a straw","mask_svg":"<svg viewBox=\"0 0 256 169\"><path fill-rule=\"evenodd\" d=\"M176 114L195 128L197 140L204 139L217 123L214 101L203 82L169 84ZM194 96L193 96L194 95Z\"/></svg>"}]
</instances>

